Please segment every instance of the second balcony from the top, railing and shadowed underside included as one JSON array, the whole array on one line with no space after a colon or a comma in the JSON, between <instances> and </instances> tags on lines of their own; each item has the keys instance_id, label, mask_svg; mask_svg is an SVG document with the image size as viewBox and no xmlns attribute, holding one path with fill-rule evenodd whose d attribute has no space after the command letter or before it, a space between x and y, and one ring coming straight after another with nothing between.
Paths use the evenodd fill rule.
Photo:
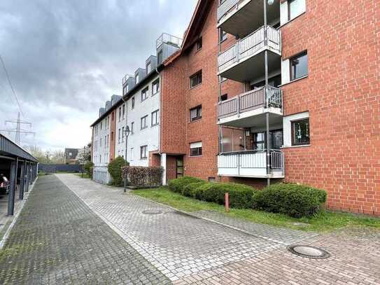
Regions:
<instances>
[{"instance_id":1,"label":"second balcony from the top, railing and shadowed underside included","mask_svg":"<svg viewBox=\"0 0 380 285\"><path fill-rule=\"evenodd\" d=\"M265 39L265 34L267 34L267 39ZM281 69L281 32L267 26L260 27L220 53L218 75L239 82L264 76L265 50L269 50L269 71Z\"/></svg>"}]
</instances>

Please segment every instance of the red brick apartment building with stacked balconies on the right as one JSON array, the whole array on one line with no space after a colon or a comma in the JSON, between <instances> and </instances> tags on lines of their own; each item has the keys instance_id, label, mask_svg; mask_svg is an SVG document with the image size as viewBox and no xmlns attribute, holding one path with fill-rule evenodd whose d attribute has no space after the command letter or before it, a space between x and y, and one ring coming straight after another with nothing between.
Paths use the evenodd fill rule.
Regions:
<instances>
[{"instance_id":1,"label":"red brick apartment building with stacked balconies on the right","mask_svg":"<svg viewBox=\"0 0 380 285\"><path fill-rule=\"evenodd\" d=\"M161 71L161 165L380 215L377 1L199 0Z\"/></svg>"}]
</instances>

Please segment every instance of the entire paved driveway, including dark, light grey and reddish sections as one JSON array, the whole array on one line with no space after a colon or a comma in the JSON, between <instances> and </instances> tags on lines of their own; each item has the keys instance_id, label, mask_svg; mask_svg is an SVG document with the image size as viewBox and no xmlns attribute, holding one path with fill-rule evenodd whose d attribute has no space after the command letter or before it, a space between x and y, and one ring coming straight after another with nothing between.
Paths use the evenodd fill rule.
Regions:
<instances>
[{"instance_id":1,"label":"entire paved driveway, including dark, light grey and reddish sections","mask_svg":"<svg viewBox=\"0 0 380 285\"><path fill-rule=\"evenodd\" d=\"M37 179L0 250L1 284L379 284L380 233L186 214L80 179ZM290 244L318 246L309 259Z\"/></svg>"}]
</instances>

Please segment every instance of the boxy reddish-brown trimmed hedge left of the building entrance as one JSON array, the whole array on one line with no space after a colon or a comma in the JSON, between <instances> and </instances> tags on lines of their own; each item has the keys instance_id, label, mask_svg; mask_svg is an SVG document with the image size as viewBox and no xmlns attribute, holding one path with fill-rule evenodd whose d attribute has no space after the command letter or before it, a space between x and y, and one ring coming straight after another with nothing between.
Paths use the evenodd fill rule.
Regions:
<instances>
[{"instance_id":1,"label":"boxy reddish-brown trimmed hedge left of the building entrance","mask_svg":"<svg viewBox=\"0 0 380 285\"><path fill-rule=\"evenodd\" d=\"M127 166L123 169L123 177L137 187L157 187L162 185L162 167Z\"/></svg>"}]
</instances>

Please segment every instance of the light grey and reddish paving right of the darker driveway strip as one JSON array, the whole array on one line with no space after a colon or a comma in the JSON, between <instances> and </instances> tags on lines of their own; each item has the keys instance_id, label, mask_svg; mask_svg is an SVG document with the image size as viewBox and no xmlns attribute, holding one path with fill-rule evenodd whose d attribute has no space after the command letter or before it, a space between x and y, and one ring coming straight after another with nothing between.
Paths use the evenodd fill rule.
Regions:
<instances>
[{"instance_id":1,"label":"light grey and reddish paving right of the darker driveway strip","mask_svg":"<svg viewBox=\"0 0 380 285\"><path fill-rule=\"evenodd\" d=\"M378 232L315 235L197 213L247 234L123 194L121 188L59 178L175 284L380 284ZM147 209L162 214L143 214ZM321 246L332 257L301 258L286 251L290 243Z\"/></svg>"}]
</instances>

